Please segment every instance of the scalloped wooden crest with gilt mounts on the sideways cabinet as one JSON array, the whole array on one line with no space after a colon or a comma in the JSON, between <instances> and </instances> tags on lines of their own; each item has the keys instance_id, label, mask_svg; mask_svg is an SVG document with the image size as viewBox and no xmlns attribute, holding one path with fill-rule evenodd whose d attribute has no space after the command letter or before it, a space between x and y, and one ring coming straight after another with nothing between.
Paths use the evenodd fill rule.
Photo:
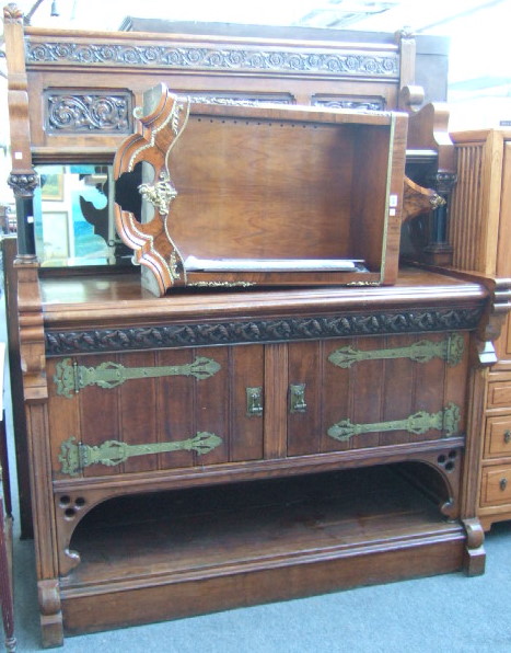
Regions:
<instances>
[{"instance_id":1,"label":"scalloped wooden crest with gilt mounts on the sideways cabinet","mask_svg":"<svg viewBox=\"0 0 511 653\"><path fill-rule=\"evenodd\" d=\"M139 193L154 208L153 218L140 222L131 211L116 204L115 219L120 238L135 250L136 262L153 273L159 295L164 295L171 286L185 284L183 259L170 237L166 220L177 195L170 179L169 154L186 126L187 110L183 99L161 84L155 107L148 115L138 116L138 134L125 140L114 160L115 180L132 173L142 161L150 161L154 168L153 182L139 186Z\"/></svg>"}]
</instances>

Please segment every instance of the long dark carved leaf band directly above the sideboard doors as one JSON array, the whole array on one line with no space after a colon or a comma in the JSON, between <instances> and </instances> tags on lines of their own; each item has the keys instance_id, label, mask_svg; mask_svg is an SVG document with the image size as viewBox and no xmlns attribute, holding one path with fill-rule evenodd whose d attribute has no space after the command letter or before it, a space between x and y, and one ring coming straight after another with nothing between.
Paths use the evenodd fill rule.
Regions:
<instances>
[{"instance_id":1,"label":"long dark carved leaf band directly above the sideboard doors","mask_svg":"<svg viewBox=\"0 0 511 653\"><path fill-rule=\"evenodd\" d=\"M475 329L481 308L431 309L392 313L284 318L246 322L133 326L94 331L48 331L46 354L114 352L216 344L291 342L387 333Z\"/></svg>"}]
</instances>

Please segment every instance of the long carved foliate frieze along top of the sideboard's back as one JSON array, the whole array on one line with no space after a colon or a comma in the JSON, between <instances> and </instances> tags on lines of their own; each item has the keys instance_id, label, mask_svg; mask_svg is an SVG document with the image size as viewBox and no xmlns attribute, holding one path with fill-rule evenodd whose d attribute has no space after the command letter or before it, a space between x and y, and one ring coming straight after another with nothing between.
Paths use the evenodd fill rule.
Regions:
<instances>
[{"instance_id":1,"label":"long carved foliate frieze along top of the sideboard's back","mask_svg":"<svg viewBox=\"0 0 511 653\"><path fill-rule=\"evenodd\" d=\"M199 45L128 45L101 43L26 43L26 61L86 66L163 67L169 69L243 70L341 75L342 77L397 78L397 53L360 54L344 49L254 49L245 47L201 47Z\"/></svg>"}]
</instances>

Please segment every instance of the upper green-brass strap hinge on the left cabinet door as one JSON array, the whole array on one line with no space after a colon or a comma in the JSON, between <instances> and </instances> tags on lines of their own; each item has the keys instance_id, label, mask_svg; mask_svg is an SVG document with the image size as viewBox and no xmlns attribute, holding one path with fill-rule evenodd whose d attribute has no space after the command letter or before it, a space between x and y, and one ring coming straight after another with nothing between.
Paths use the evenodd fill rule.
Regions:
<instances>
[{"instance_id":1,"label":"upper green-brass strap hinge on the left cabinet door","mask_svg":"<svg viewBox=\"0 0 511 653\"><path fill-rule=\"evenodd\" d=\"M211 358L198 356L193 363L185 365L164 365L160 367L125 367L119 363L106 362L97 367L78 365L71 358L57 363L54 381L57 394L71 398L86 386L115 388L129 379L149 379L166 376L193 376L207 379L219 371L221 366Z\"/></svg>"}]
</instances>

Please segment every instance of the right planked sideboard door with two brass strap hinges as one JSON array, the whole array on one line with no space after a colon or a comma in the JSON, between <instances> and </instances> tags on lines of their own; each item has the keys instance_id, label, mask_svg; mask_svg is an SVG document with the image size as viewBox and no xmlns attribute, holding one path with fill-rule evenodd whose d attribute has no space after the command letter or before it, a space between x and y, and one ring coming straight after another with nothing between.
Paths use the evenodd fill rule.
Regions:
<instances>
[{"instance_id":1,"label":"right planked sideboard door with two brass strap hinges","mask_svg":"<svg viewBox=\"0 0 511 653\"><path fill-rule=\"evenodd\" d=\"M290 345L288 455L461 435L466 366L457 333Z\"/></svg>"}]
</instances>

